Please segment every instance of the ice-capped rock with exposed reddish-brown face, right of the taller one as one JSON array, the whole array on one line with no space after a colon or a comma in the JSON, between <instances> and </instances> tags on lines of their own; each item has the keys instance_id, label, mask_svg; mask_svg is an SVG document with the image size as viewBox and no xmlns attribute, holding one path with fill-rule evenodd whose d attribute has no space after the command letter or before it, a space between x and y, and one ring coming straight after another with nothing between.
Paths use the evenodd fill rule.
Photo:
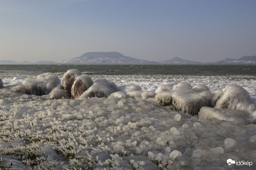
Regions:
<instances>
[{"instance_id":1,"label":"ice-capped rock with exposed reddish-brown face, right of the taller one","mask_svg":"<svg viewBox=\"0 0 256 170\"><path fill-rule=\"evenodd\" d=\"M71 95L74 99L81 96L93 84L92 78L82 74L76 78L71 88Z\"/></svg>"}]
</instances>

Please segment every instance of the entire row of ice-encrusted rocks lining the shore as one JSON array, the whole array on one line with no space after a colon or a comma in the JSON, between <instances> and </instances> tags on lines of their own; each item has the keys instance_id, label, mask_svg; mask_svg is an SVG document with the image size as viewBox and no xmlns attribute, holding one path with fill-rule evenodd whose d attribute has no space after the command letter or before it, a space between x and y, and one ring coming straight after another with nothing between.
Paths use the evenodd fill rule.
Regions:
<instances>
[{"instance_id":1,"label":"entire row of ice-encrusted rocks lining the shore","mask_svg":"<svg viewBox=\"0 0 256 170\"><path fill-rule=\"evenodd\" d=\"M55 87L55 88L54 88ZM190 115L200 114L209 119L218 118L220 120L231 120L224 118L230 115L229 110L244 110L246 112L234 112L234 116L247 117L247 112L251 116L250 120L242 120L243 123L252 123L256 117L256 104L250 98L249 93L239 85L226 85L224 89L210 92L206 85L198 84L191 86L186 82L177 85L159 85L154 91L142 91L138 85L117 86L114 82L106 78L98 78L94 82L88 75L82 74L79 70L68 70L61 80L53 73L44 73L33 78L25 79L22 85L13 88L18 92L27 94L44 95L49 94L52 99L86 99L92 97L105 97L113 95L118 98L156 98L158 103L169 106L175 111L182 111ZM215 110L206 109L216 108ZM207 111L206 111L207 110ZM216 113L223 113L222 116ZM212 113L212 115L209 115ZM224 117L223 117L224 116ZM239 118L239 119L240 119ZM238 122L236 122L238 123Z\"/></svg>"}]
</instances>

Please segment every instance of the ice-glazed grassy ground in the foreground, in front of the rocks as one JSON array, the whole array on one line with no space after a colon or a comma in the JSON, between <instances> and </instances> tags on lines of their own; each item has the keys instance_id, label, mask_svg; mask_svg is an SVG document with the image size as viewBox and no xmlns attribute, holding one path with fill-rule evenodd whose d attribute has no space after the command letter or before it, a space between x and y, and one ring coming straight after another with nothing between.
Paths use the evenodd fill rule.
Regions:
<instances>
[{"instance_id":1,"label":"ice-glazed grassy ground in the foreground, in front of the rocks","mask_svg":"<svg viewBox=\"0 0 256 170\"><path fill-rule=\"evenodd\" d=\"M227 160L232 159L253 163L235 169L255 169L255 124L234 125L172 111L155 98L48 98L0 89L1 165L231 169Z\"/></svg>"}]
</instances>

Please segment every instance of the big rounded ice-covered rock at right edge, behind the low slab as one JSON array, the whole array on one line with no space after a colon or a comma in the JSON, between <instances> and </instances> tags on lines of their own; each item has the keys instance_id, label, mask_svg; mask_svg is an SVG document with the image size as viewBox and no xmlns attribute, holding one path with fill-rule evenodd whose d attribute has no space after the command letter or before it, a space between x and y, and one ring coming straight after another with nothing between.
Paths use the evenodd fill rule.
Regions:
<instances>
[{"instance_id":1,"label":"big rounded ice-covered rock at right edge, behind the low slab","mask_svg":"<svg viewBox=\"0 0 256 170\"><path fill-rule=\"evenodd\" d=\"M253 113L256 110L256 103L240 85L227 85L223 89L223 95L217 101L215 108L246 110Z\"/></svg>"}]
</instances>

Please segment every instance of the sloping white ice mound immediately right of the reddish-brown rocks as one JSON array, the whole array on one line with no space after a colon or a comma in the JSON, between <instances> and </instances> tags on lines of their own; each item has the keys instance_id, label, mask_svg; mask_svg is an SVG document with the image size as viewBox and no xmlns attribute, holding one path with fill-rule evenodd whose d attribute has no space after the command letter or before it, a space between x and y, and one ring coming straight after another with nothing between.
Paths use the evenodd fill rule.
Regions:
<instances>
[{"instance_id":1,"label":"sloping white ice mound immediately right of the reddish-brown rocks","mask_svg":"<svg viewBox=\"0 0 256 170\"><path fill-rule=\"evenodd\" d=\"M106 78L96 80L88 90L86 90L79 99L92 97L108 97L112 93L117 92L118 87L114 82L108 81Z\"/></svg>"}]
</instances>

